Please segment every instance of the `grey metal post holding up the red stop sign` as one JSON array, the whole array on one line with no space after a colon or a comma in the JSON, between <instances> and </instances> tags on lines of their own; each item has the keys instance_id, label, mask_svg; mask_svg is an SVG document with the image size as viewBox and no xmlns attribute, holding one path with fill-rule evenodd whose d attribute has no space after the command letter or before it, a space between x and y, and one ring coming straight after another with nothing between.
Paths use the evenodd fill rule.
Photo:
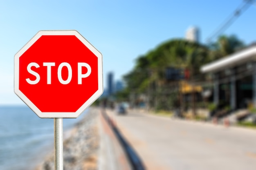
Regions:
<instances>
[{"instance_id":1,"label":"grey metal post holding up the red stop sign","mask_svg":"<svg viewBox=\"0 0 256 170\"><path fill-rule=\"evenodd\" d=\"M54 118L54 170L63 170L63 118Z\"/></svg>"}]
</instances>

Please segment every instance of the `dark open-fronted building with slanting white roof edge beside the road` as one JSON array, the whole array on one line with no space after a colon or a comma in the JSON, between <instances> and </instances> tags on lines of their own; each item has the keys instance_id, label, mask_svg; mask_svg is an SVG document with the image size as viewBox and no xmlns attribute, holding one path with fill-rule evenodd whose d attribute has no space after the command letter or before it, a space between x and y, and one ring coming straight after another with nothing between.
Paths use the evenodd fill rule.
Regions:
<instances>
[{"instance_id":1,"label":"dark open-fronted building with slanting white roof edge beside the road","mask_svg":"<svg viewBox=\"0 0 256 170\"><path fill-rule=\"evenodd\" d=\"M213 101L231 110L256 107L256 46L202 66L213 74Z\"/></svg>"}]
</instances>

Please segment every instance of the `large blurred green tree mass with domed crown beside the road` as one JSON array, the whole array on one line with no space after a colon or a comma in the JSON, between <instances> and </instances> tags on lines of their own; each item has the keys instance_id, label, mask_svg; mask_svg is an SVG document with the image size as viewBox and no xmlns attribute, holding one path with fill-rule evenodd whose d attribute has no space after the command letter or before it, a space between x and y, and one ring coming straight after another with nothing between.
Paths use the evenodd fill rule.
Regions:
<instances>
[{"instance_id":1,"label":"large blurred green tree mass with domed crown beside the road","mask_svg":"<svg viewBox=\"0 0 256 170\"><path fill-rule=\"evenodd\" d=\"M151 104L156 108L164 107L162 101L173 100L174 95L170 91L177 91L176 85L171 89L166 86L166 68L187 68L192 75L198 74L200 66L209 62L208 53L208 47L202 44L180 39L169 40L139 56L135 67L124 76L124 80L130 92L144 93L150 96Z\"/></svg>"}]
</instances>

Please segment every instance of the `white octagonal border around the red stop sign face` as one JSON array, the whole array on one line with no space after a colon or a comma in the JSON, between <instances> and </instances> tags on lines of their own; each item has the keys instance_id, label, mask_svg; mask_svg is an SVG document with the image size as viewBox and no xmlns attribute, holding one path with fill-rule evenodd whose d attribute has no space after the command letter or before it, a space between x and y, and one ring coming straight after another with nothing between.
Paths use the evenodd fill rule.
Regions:
<instances>
[{"instance_id":1,"label":"white octagonal border around the red stop sign face","mask_svg":"<svg viewBox=\"0 0 256 170\"><path fill-rule=\"evenodd\" d=\"M98 90L76 112L42 112L19 90L19 58L42 35L75 35L98 58ZM14 93L31 108L40 118L77 118L103 93L103 64L102 54L76 30L39 31L25 46L14 55Z\"/></svg>"}]
</instances>

